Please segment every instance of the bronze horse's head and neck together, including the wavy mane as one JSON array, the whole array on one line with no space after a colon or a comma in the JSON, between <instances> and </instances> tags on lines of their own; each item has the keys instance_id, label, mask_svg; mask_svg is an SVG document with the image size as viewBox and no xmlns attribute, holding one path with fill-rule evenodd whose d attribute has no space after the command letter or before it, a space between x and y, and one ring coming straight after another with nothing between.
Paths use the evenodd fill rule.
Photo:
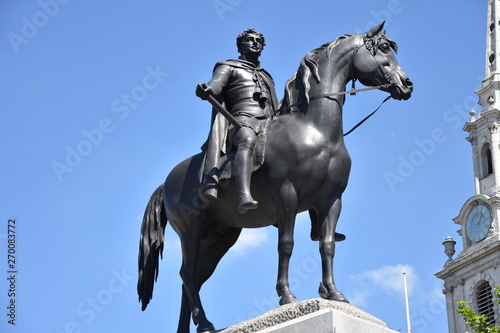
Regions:
<instances>
[{"instance_id":1,"label":"bronze horse's head and neck together, including the wavy mane","mask_svg":"<svg viewBox=\"0 0 500 333\"><path fill-rule=\"evenodd\" d=\"M306 54L285 85L280 111L297 111L315 97L341 91L352 79L380 86L394 99L409 99L413 83L399 67L398 46L381 33L383 27L384 22L364 34L340 36Z\"/></svg>"}]
</instances>

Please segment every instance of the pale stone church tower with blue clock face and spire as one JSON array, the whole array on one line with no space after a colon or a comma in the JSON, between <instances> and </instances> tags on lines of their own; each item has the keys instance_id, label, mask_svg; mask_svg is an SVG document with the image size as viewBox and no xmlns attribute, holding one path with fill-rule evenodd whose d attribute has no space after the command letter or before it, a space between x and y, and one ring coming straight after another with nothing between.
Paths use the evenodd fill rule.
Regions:
<instances>
[{"instance_id":1,"label":"pale stone church tower with blue clock face and spire","mask_svg":"<svg viewBox=\"0 0 500 333\"><path fill-rule=\"evenodd\" d=\"M498 7L498 8L496 8ZM496 324L500 306L494 288L500 285L500 2L488 0L486 68L479 96L481 112L471 110L465 123L472 147L475 195L470 197L453 221L463 251L455 258L456 242L443 242L448 261L436 276L444 280L450 333L465 332L465 321L457 302L465 301L476 313ZM497 59L499 58L499 59ZM498 63L498 64L497 64ZM459 240L459 241L460 241Z\"/></svg>"}]
</instances>

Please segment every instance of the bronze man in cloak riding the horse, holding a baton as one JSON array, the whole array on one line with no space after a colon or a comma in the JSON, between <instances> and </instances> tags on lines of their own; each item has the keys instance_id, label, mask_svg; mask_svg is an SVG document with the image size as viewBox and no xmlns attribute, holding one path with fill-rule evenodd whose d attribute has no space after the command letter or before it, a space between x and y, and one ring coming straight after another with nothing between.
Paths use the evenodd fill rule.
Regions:
<instances>
[{"instance_id":1,"label":"bronze man in cloak riding the horse, holding a baton","mask_svg":"<svg viewBox=\"0 0 500 333\"><path fill-rule=\"evenodd\" d=\"M266 45L264 36L247 29L238 36L236 44L240 57L217 63L212 79L199 84L196 95L202 99L213 95L242 125L240 129L228 123L221 126L216 119L221 115L213 117L202 170L202 186L206 198L217 198L218 178L214 170L220 167L218 156L230 142L228 151L236 148L232 171L239 192L238 212L243 214L258 205L250 193L252 153L257 134L262 130L264 121L274 115L278 102L271 75L260 67L259 57ZM214 146L216 148L211 148Z\"/></svg>"}]
</instances>

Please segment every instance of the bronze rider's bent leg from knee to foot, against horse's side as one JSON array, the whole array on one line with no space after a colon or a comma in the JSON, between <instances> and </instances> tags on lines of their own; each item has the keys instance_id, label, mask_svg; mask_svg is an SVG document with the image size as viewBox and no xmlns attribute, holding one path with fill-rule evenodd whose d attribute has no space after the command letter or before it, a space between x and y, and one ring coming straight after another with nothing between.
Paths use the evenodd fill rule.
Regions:
<instances>
[{"instance_id":1,"label":"bronze rider's bent leg from knee to foot, against horse's side","mask_svg":"<svg viewBox=\"0 0 500 333\"><path fill-rule=\"evenodd\" d=\"M237 147L233 161L233 173L239 192L238 212L244 214L249 209L256 209L258 202L250 194L252 175L252 152L255 146L256 134L249 127L242 127L234 135Z\"/></svg>"}]
</instances>

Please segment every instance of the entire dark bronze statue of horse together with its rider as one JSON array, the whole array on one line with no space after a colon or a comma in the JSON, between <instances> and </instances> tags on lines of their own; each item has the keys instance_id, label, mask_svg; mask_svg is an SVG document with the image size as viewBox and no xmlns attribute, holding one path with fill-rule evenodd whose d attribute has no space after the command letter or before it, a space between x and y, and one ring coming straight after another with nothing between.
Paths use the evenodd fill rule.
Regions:
<instances>
[{"instance_id":1,"label":"entire dark bronze statue of horse together with its rider","mask_svg":"<svg viewBox=\"0 0 500 333\"><path fill-rule=\"evenodd\" d=\"M199 154L178 164L151 196L139 244L142 310L153 296L167 222L182 248L182 304L177 333L214 330L199 291L242 228L278 228L280 305L297 302L288 271L298 213L308 211L319 240L320 296L348 302L333 272L336 233L351 159L344 143L346 85L363 85L407 100L413 84L395 58L397 44L381 33L343 35L309 52L277 103L271 75L260 67L264 36L247 29L240 57L217 63L196 95L213 105L211 130ZM360 90L366 90L359 89Z\"/></svg>"}]
</instances>

